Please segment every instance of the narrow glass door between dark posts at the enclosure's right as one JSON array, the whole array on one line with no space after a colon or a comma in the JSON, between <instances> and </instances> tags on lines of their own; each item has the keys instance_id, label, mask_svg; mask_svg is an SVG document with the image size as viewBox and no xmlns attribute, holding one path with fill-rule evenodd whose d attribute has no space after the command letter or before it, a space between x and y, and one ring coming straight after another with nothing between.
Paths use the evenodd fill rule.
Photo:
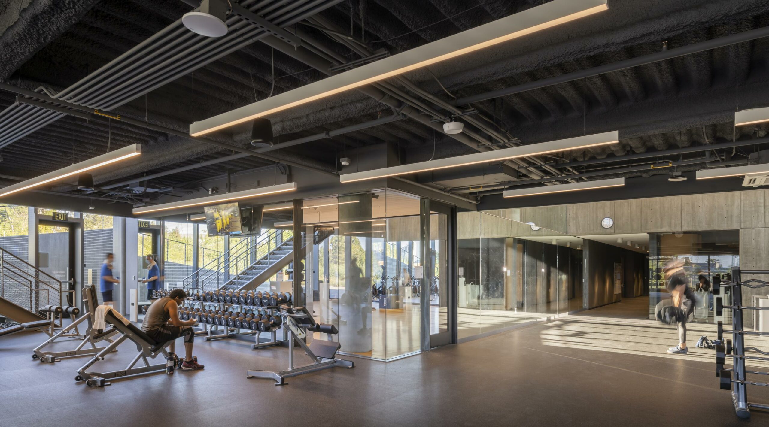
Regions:
<instances>
[{"instance_id":1,"label":"narrow glass door between dark posts at the enclosure's right","mask_svg":"<svg viewBox=\"0 0 769 427\"><path fill-rule=\"evenodd\" d=\"M421 298L430 300L430 347L455 341L452 339L456 324L451 273L454 271L453 216L453 208L430 202L430 237L425 248L429 258L424 262L421 286Z\"/></svg>"}]
</instances>

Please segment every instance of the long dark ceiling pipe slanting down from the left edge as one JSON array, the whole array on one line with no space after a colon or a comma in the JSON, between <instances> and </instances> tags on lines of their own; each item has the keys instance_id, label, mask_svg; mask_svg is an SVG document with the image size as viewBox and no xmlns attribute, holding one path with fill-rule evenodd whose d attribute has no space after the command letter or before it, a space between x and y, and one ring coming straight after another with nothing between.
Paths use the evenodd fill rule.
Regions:
<instances>
[{"instance_id":1,"label":"long dark ceiling pipe slanting down from the left edge","mask_svg":"<svg viewBox=\"0 0 769 427\"><path fill-rule=\"evenodd\" d=\"M38 98L38 99L42 99L43 101L47 101L47 102L55 102L58 105L64 105L64 106L69 107L69 108L75 108L75 109L78 109L78 110L80 110L82 112L87 112L89 115L92 115L93 118L101 117L101 115L94 114L92 109L90 109L88 107L84 107L82 105L70 104L69 102L59 101L58 99L50 98L47 95L42 95L42 94L40 94L38 92L32 92L32 91L30 91L28 89L25 89L25 88L17 88L15 86L8 85L6 83L0 82L0 89L8 91L8 92L12 92L12 93L17 93L17 94L20 94L20 95L32 96L32 97L35 97L35 98ZM110 117L112 117L112 116L110 116ZM165 132L165 133L168 133L169 135L181 136L182 138L191 139L191 140L197 141L197 142L203 142L203 143L208 144L208 145L215 145L215 146L217 146L219 148L225 148L227 150L231 150L231 151L235 151L235 152L241 152L241 153L243 153L245 155L253 155L253 156L259 157L259 158L265 158L266 160L270 160L271 162L283 163L285 165L294 166L295 168L307 169L308 171L318 172L318 173L321 173L323 175L333 176L335 178L338 178L338 176L339 176L339 175L337 175L334 172L329 172L329 171L325 171L325 170L322 170L322 169L313 168L313 167L308 166L308 165L302 165L301 163L289 162L289 161L287 161L285 159L279 159L279 158L273 157L271 155L263 154L261 152L255 152L255 151L249 150L247 148L238 147L238 145L232 145L232 144L228 144L226 142L218 142L218 141L214 141L213 139L208 139L208 138L200 138L200 137L196 137L196 136L190 136L186 132L180 132L180 131L178 131L176 129L166 128L165 126L152 125L149 122L142 122L141 120L135 120L133 118L128 118L128 117L125 117L125 116L120 116L119 118L118 118L118 116L115 116L115 117L112 117L112 118L115 118L115 120L119 120L120 122L126 122L126 123L130 123L131 125L139 126L141 128L148 128L148 129L152 129L152 130L155 130L155 131L158 131L158 132Z\"/></svg>"}]
</instances>

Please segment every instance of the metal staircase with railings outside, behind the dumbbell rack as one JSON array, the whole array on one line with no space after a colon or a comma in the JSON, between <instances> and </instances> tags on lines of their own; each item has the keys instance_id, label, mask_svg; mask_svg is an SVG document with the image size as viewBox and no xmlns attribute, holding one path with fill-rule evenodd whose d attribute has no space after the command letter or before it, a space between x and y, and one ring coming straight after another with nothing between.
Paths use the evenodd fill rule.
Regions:
<instances>
[{"instance_id":1,"label":"metal staircase with railings outside, behind the dumbbell rack","mask_svg":"<svg viewBox=\"0 0 769 427\"><path fill-rule=\"evenodd\" d=\"M293 261L293 245L288 230L238 239L230 250L188 275L183 288L188 293L254 289Z\"/></svg>"}]
</instances>

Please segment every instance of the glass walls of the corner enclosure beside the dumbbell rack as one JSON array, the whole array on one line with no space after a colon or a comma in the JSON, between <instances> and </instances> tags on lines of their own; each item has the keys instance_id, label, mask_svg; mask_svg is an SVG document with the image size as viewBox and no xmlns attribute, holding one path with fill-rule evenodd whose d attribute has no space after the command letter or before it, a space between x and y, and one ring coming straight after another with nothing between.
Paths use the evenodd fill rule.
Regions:
<instances>
[{"instance_id":1,"label":"glass walls of the corner enclosure beside the dumbbell rack","mask_svg":"<svg viewBox=\"0 0 769 427\"><path fill-rule=\"evenodd\" d=\"M318 289L315 315L339 330L315 339L338 340L348 354L392 360L421 351L423 307L431 312L431 329L447 327L446 300L441 305L436 292L441 274L448 274L441 258L446 238L436 220L429 252L435 261L425 264L419 198L376 190L308 199L302 211L305 234L314 236L305 265L308 289Z\"/></svg>"}]
</instances>

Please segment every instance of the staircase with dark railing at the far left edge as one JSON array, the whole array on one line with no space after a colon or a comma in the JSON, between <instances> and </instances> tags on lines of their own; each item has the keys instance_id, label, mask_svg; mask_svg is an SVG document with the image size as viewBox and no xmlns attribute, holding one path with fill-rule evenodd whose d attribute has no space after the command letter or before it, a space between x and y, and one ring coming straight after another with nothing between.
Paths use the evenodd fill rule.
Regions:
<instances>
[{"instance_id":1,"label":"staircase with dark railing at the far left edge","mask_svg":"<svg viewBox=\"0 0 769 427\"><path fill-rule=\"evenodd\" d=\"M0 315L18 323L46 318L39 308L64 306L62 282L0 248Z\"/></svg>"}]
</instances>

